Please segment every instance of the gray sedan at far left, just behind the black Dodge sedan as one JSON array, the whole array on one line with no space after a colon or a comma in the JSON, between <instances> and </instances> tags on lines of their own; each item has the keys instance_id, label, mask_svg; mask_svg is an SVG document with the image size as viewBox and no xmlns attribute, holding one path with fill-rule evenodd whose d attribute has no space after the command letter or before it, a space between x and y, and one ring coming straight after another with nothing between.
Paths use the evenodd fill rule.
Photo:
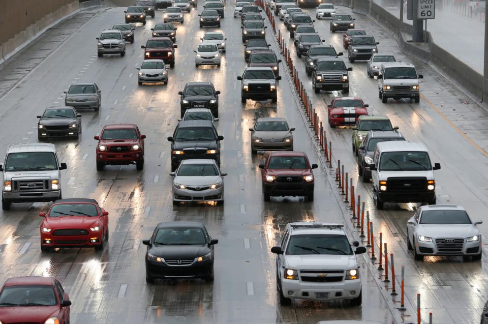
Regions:
<instances>
[{"instance_id":1,"label":"gray sedan at far left, just behind the black Dodge sedan","mask_svg":"<svg viewBox=\"0 0 488 324\"><path fill-rule=\"evenodd\" d=\"M68 91L64 91L65 105L98 111L102 102L101 92L96 83L73 83Z\"/></svg>"}]
</instances>

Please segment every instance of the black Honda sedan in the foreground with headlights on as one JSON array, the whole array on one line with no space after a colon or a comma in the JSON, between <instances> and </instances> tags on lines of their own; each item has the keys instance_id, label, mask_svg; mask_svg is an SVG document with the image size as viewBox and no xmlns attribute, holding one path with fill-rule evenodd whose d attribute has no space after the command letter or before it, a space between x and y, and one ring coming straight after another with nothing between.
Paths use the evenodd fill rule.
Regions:
<instances>
[{"instance_id":1,"label":"black Honda sedan in the foreground with headlights on","mask_svg":"<svg viewBox=\"0 0 488 324\"><path fill-rule=\"evenodd\" d=\"M163 222L151 239L143 240L146 251L146 282L155 279L201 278L214 281L214 245L200 222Z\"/></svg>"}]
</instances>

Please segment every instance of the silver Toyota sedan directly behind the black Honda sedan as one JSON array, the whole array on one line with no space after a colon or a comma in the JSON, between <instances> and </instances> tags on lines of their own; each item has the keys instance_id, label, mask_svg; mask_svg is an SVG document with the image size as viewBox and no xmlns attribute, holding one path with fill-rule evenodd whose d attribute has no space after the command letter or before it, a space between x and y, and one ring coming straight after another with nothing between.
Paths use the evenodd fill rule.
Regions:
<instances>
[{"instance_id":1,"label":"silver Toyota sedan directly behind the black Honda sedan","mask_svg":"<svg viewBox=\"0 0 488 324\"><path fill-rule=\"evenodd\" d=\"M224 202L224 176L214 160L182 160L173 179L173 204L181 201Z\"/></svg>"}]
</instances>

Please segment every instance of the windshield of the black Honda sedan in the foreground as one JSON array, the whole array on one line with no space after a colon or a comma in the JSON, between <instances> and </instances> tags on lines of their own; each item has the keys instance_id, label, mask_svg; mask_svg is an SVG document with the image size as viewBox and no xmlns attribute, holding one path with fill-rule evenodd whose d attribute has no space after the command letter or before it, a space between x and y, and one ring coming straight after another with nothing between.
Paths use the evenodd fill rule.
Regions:
<instances>
[{"instance_id":1,"label":"windshield of the black Honda sedan in the foreground","mask_svg":"<svg viewBox=\"0 0 488 324\"><path fill-rule=\"evenodd\" d=\"M205 235L201 228L160 228L153 244L159 245L204 245Z\"/></svg>"}]
</instances>

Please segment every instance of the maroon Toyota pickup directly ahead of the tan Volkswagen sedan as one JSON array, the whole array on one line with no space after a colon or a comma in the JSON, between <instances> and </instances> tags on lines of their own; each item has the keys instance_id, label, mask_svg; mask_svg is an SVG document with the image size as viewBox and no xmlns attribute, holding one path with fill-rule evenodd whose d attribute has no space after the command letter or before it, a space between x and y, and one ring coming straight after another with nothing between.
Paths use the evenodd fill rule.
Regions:
<instances>
[{"instance_id":1,"label":"maroon Toyota pickup directly ahead of the tan Volkswagen sedan","mask_svg":"<svg viewBox=\"0 0 488 324\"><path fill-rule=\"evenodd\" d=\"M317 164L310 164L303 152L278 151L269 153L259 165L264 201L271 196L303 196L314 201L314 174Z\"/></svg>"}]
</instances>

